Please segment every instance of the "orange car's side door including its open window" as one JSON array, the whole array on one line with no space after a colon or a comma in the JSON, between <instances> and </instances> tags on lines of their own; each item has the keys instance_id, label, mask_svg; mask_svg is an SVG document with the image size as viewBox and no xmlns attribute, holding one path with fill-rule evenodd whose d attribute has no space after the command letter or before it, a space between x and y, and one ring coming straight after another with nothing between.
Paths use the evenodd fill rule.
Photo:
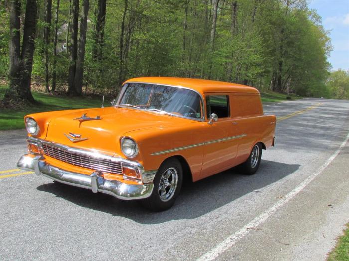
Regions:
<instances>
[{"instance_id":1,"label":"orange car's side door including its open window","mask_svg":"<svg viewBox=\"0 0 349 261\"><path fill-rule=\"evenodd\" d=\"M237 125L231 118L229 95L209 94L206 98L207 125L204 126L205 144L201 176L216 174L234 166L237 153ZM217 121L209 124L212 113L218 115Z\"/></svg>"}]
</instances>

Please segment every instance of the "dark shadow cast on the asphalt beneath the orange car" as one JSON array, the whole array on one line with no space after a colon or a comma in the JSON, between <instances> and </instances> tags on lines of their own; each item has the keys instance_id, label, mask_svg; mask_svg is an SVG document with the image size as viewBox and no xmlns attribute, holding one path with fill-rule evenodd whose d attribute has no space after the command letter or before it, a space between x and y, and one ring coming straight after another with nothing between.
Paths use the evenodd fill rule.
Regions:
<instances>
[{"instance_id":1,"label":"dark shadow cast on the asphalt beneath the orange car","mask_svg":"<svg viewBox=\"0 0 349 261\"><path fill-rule=\"evenodd\" d=\"M91 190L48 183L37 190L48 192L81 207L129 218L141 224L158 224L176 219L194 219L224 206L250 192L262 192L264 187L296 172L298 164L262 160L257 174L246 176L234 168L195 183L186 184L174 206L164 212L150 212L137 201L123 201Z\"/></svg>"}]
</instances>

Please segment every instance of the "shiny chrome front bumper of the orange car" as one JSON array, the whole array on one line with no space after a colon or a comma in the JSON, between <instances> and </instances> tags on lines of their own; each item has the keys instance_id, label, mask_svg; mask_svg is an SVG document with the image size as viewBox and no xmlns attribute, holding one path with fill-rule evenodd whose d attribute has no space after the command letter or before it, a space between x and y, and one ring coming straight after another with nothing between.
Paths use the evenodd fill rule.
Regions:
<instances>
[{"instance_id":1,"label":"shiny chrome front bumper of the orange car","mask_svg":"<svg viewBox=\"0 0 349 261\"><path fill-rule=\"evenodd\" d=\"M153 183L130 185L118 180L106 180L101 171L91 175L65 171L43 161L43 156L24 154L17 166L21 170L34 171L36 175L43 175L57 182L91 189L93 193L101 192L123 200L147 198L152 194Z\"/></svg>"}]
</instances>

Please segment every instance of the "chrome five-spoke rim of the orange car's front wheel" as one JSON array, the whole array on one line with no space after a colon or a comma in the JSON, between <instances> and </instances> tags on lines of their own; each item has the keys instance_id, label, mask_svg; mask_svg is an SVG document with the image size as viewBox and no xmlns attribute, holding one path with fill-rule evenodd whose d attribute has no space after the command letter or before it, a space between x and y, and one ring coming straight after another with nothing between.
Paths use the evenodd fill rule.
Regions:
<instances>
[{"instance_id":1,"label":"chrome five-spoke rim of the orange car's front wheel","mask_svg":"<svg viewBox=\"0 0 349 261\"><path fill-rule=\"evenodd\" d=\"M173 197L177 183L178 173L176 169L169 168L162 174L158 189L162 201L169 201Z\"/></svg>"}]
</instances>

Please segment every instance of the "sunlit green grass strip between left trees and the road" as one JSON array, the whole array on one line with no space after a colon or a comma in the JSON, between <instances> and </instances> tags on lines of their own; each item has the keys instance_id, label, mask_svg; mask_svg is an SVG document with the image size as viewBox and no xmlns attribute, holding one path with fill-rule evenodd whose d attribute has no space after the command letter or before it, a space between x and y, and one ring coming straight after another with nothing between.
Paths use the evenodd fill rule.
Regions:
<instances>
[{"instance_id":1,"label":"sunlit green grass strip between left trees and the road","mask_svg":"<svg viewBox=\"0 0 349 261\"><path fill-rule=\"evenodd\" d=\"M0 98L3 97L4 88L0 89ZM81 108L101 107L102 99L97 97L67 97L51 96L44 93L32 92L35 100L38 102L30 108L25 109L0 109L0 130L23 129L24 116L36 112L69 110ZM105 102L105 104L107 104ZM107 104L108 105L108 104Z\"/></svg>"}]
</instances>

